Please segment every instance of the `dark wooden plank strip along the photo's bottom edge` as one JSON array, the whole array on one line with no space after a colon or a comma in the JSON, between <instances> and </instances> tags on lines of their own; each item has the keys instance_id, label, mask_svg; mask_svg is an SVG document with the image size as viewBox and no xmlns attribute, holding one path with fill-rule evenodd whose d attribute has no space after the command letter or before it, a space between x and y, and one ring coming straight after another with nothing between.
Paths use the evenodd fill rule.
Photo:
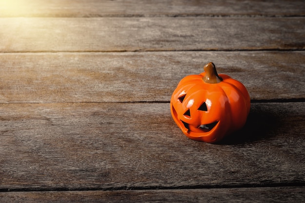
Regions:
<instances>
[{"instance_id":1,"label":"dark wooden plank strip along the photo's bottom edge","mask_svg":"<svg viewBox=\"0 0 305 203\"><path fill-rule=\"evenodd\" d=\"M32 202L303 202L305 187L183 190L1 192L6 203Z\"/></svg>"}]
</instances>

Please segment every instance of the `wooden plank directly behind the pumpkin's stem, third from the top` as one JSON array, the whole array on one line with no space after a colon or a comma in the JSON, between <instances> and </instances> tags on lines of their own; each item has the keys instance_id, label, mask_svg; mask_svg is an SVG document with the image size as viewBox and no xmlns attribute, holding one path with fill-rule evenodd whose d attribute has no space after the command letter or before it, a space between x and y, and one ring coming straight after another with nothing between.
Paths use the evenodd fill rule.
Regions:
<instances>
[{"instance_id":1,"label":"wooden plank directly behind the pumpkin's stem, third from the top","mask_svg":"<svg viewBox=\"0 0 305 203\"><path fill-rule=\"evenodd\" d=\"M305 51L5 53L0 102L169 102L178 82L210 61L252 100L305 97Z\"/></svg>"}]
</instances>

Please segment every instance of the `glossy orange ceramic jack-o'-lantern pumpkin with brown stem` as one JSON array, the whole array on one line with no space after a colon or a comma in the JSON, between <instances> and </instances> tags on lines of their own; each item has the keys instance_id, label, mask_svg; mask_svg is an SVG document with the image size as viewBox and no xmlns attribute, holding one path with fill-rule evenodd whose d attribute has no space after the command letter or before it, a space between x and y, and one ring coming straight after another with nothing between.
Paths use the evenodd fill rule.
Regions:
<instances>
[{"instance_id":1,"label":"glossy orange ceramic jack-o'-lantern pumpkin with brown stem","mask_svg":"<svg viewBox=\"0 0 305 203\"><path fill-rule=\"evenodd\" d=\"M205 72L183 78L172 93L172 118L194 140L214 143L242 128L250 111L246 87L209 63Z\"/></svg>"}]
</instances>

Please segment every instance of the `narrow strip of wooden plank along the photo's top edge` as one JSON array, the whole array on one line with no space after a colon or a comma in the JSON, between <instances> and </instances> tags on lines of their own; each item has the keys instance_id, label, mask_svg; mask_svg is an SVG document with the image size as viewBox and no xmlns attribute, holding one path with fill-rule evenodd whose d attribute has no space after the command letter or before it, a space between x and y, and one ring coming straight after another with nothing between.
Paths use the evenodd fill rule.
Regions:
<instances>
[{"instance_id":1,"label":"narrow strip of wooden plank along the photo's top edge","mask_svg":"<svg viewBox=\"0 0 305 203\"><path fill-rule=\"evenodd\" d=\"M302 0L10 0L0 17L304 16Z\"/></svg>"}]
</instances>

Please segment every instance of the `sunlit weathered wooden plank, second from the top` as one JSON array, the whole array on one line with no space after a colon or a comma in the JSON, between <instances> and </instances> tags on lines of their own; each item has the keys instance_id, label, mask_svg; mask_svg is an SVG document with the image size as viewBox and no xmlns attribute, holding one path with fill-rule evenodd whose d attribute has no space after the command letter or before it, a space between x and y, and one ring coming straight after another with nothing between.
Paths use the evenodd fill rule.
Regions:
<instances>
[{"instance_id":1,"label":"sunlit weathered wooden plank, second from the top","mask_svg":"<svg viewBox=\"0 0 305 203\"><path fill-rule=\"evenodd\" d=\"M1 52L304 50L305 18L0 18Z\"/></svg>"}]
</instances>

